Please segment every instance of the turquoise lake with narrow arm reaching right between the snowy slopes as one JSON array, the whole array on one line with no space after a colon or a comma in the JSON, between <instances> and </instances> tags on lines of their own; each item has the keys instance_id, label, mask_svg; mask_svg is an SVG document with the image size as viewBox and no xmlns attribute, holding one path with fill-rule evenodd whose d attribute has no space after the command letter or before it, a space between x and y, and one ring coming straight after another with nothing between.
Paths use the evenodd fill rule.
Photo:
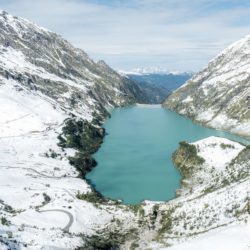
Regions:
<instances>
[{"instance_id":1,"label":"turquoise lake with narrow arm reaching right between the snowy slopes","mask_svg":"<svg viewBox=\"0 0 250 250\"><path fill-rule=\"evenodd\" d=\"M220 136L244 142L157 105L116 108L104 127L108 134L94 155L98 165L87 178L105 197L125 204L175 197L181 176L171 155L180 141Z\"/></svg>"}]
</instances>

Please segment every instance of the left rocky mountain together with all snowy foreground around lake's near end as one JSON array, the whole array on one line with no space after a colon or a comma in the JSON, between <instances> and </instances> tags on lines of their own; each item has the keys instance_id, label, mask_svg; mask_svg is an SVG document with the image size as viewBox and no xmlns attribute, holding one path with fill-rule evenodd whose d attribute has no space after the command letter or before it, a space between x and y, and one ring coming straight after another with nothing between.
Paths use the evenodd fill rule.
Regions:
<instances>
[{"instance_id":1,"label":"left rocky mountain together with all snowy foreground around lake's near end","mask_svg":"<svg viewBox=\"0 0 250 250\"><path fill-rule=\"evenodd\" d=\"M176 156L186 160L178 167L189 175L172 201L100 199L69 163L77 149L58 146L58 135L65 119L98 127L106 108L143 93L27 20L1 12L0 28L1 250L226 250L232 234L228 244L249 247L249 147L210 137L187 146L203 159L191 165L180 147Z\"/></svg>"}]
</instances>

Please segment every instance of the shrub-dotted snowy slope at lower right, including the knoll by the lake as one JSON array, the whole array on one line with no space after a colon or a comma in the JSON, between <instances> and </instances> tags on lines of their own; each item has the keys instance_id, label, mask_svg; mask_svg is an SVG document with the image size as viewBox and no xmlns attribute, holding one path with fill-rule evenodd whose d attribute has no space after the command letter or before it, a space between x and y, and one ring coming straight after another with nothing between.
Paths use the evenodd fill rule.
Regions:
<instances>
[{"instance_id":1,"label":"shrub-dotted snowy slope at lower right, including the knoll by the lake","mask_svg":"<svg viewBox=\"0 0 250 250\"><path fill-rule=\"evenodd\" d=\"M149 249L248 249L250 149L216 137L192 145L204 163L191 166L180 197L157 205L156 230L146 234L151 240L138 242Z\"/></svg>"}]
</instances>

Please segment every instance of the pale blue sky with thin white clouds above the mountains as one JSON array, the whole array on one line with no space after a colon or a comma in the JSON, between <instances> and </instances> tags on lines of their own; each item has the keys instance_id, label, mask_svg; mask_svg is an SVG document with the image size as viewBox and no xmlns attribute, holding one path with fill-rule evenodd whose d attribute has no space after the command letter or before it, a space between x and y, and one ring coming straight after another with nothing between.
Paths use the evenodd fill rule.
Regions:
<instances>
[{"instance_id":1,"label":"pale blue sky with thin white clouds above the mountains","mask_svg":"<svg viewBox=\"0 0 250 250\"><path fill-rule=\"evenodd\" d=\"M250 33L249 0L0 0L116 69L197 71Z\"/></svg>"}]
</instances>

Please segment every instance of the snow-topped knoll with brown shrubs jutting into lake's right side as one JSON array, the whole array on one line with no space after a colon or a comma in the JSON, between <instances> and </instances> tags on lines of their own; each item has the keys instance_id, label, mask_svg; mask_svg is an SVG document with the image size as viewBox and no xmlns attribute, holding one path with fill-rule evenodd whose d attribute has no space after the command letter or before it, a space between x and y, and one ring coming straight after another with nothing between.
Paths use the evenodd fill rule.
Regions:
<instances>
[{"instance_id":1,"label":"snow-topped knoll with brown shrubs jutting into lake's right side","mask_svg":"<svg viewBox=\"0 0 250 250\"><path fill-rule=\"evenodd\" d=\"M208 137L196 143L181 142L173 162L182 175L177 194L193 192L203 186L210 193L240 182L250 173L249 146L225 138Z\"/></svg>"}]
</instances>

